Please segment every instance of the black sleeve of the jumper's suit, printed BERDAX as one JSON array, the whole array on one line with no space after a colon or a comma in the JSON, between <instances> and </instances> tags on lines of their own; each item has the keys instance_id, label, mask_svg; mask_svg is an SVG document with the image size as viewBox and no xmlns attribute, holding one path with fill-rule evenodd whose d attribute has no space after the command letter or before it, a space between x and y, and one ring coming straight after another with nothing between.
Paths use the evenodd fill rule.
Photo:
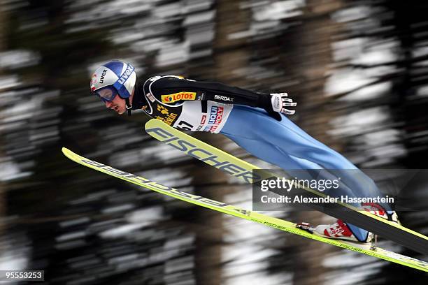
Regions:
<instances>
[{"instance_id":1,"label":"black sleeve of the jumper's suit, printed BERDAX","mask_svg":"<svg viewBox=\"0 0 428 285\"><path fill-rule=\"evenodd\" d=\"M230 87L220 82L199 82L175 76L163 76L152 82L150 92L159 101L166 95L180 92L196 93L192 100L209 100L219 103L249 105L259 107L261 98L266 94L258 94L238 87Z\"/></svg>"}]
</instances>

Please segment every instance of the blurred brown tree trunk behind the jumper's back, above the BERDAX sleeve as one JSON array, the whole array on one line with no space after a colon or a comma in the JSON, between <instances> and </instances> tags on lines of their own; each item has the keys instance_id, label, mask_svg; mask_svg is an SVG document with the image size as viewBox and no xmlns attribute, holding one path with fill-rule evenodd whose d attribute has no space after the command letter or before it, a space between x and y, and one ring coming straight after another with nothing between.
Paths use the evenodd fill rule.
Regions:
<instances>
[{"instance_id":1,"label":"blurred brown tree trunk behind the jumper's back, above the BERDAX sleeve","mask_svg":"<svg viewBox=\"0 0 428 285\"><path fill-rule=\"evenodd\" d=\"M248 65L248 52L245 47L241 46L242 40L230 40L229 35L248 29L250 15L248 15L248 10L239 9L239 1L217 1L215 10L217 15L215 19L216 34L213 43L215 68L207 70L206 76L226 84L245 86L245 78L234 75L234 71ZM198 66L195 71L201 72L201 66ZM190 74L192 74L191 70ZM208 133L198 133L197 136L210 144L220 146L220 148L225 140L222 136L212 136ZM227 185L228 177L223 173L211 168L207 172L208 175L204 175L204 183L221 182ZM214 188L210 187L210 189L213 191L206 191L204 196L220 201L224 201L224 195L228 191L234 191L233 187L219 187L218 185ZM201 193L201 195L203 194ZM196 254L196 263L199 270L196 270L197 282L198 284L219 285L222 284L221 252L224 217L222 214L213 214L213 212L204 209L198 211L200 221L204 221L207 225L206 228L210 228L210 230L198 233L197 249L199 251Z\"/></svg>"}]
</instances>

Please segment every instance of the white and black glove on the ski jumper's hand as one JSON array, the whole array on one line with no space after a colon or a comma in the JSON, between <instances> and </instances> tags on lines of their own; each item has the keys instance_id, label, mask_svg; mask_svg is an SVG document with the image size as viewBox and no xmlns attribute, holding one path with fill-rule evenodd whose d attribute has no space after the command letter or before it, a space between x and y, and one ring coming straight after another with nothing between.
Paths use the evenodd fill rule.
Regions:
<instances>
[{"instance_id":1,"label":"white and black glove on the ski jumper's hand","mask_svg":"<svg viewBox=\"0 0 428 285\"><path fill-rule=\"evenodd\" d=\"M293 102L291 98L287 98L287 93L272 93L262 94L261 107L269 113L273 119L281 120L280 112L285 115L293 115L295 110L288 110L285 107L295 107L297 103Z\"/></svg>"}]
</instances>

